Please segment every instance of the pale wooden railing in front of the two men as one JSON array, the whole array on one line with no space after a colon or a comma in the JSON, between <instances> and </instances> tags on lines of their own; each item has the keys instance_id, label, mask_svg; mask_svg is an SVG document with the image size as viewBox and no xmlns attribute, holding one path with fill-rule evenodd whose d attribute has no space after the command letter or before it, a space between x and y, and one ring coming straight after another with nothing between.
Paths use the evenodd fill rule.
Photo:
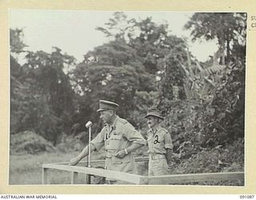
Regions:
<instances>
[{"instance_id":1,"label":"pale wooden railing in front of the two men","mask_svg":"<svg viewBox=\"0 0 256 200\"><path fill-rule=\"evenodd\" d=\"M148 158L135 158L135 162L148 162ZM104 166L105 160L93 160L92 166ZM161 176L142 176L138 174L128 174L113 170L103 170L94 167L86 167L86 162L80 162L83 166L69 166L67 162L51 163L42 165L42 184L50 184L49 170L70 171L70 183L78 183L78 173L94 175L105 178L114 178L123 182L130 182L134 185L153 185L158 184L178 184L189 182L209 182L222 180L244 180L244 172L220 172L203 174L170 174Z\"/></svg>"}]
</instances>

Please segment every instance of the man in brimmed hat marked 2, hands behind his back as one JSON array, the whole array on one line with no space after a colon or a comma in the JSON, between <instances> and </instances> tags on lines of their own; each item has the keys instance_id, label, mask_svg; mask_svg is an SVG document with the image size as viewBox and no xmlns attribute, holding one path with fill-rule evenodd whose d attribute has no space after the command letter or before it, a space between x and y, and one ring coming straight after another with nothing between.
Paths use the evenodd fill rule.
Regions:
<instances>
[{"instance_id":1,"label":"man in brimmed hat marked 2, hands behind his back","mask_svg":"<svg viewBox=\"0 0 256 200\"><path fill-rule=\"evenodd\" d=\"M149 146L149 176L165 175L168 173L173 154L170 134L160 126L163 118L157 108L150 108L145 116L148 130Z\"/></svg>"}]
</instances>

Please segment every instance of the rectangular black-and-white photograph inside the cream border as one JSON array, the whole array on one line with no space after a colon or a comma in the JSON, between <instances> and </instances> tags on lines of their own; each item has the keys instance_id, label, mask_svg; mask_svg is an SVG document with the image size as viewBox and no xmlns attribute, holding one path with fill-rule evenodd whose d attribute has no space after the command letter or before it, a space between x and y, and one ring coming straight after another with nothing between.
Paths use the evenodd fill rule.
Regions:
<instances>
[{"instance_id":1,"label":"rectangular black-and-white photograph inside the cream border","mask_svg":"<svg viewBox=\"0 0 256 200\"><path fill-rule=\"evenodd\" d=\"M247 18L10 9L8 185L244 187Z\"/></svg>"}]
</instances>

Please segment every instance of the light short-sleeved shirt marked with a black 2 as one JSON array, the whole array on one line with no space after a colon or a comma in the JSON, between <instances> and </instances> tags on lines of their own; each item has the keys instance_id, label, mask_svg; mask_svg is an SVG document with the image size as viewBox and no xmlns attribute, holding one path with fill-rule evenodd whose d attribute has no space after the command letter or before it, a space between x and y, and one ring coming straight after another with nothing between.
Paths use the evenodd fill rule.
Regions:
<instances>
[{"instance_id":1,"label":"light short-sleeved shirt marked with a black 2","mask_svg":"<svg viewBox=\"0 0 256 200\"><path fill-rule=\"evenodd\" d=\"M154 132L150 129L148 132L148 146L150 154L166 154L166 149L172 149L173 144L168 130L158 126Z\"/></svg>"}]
</instances>

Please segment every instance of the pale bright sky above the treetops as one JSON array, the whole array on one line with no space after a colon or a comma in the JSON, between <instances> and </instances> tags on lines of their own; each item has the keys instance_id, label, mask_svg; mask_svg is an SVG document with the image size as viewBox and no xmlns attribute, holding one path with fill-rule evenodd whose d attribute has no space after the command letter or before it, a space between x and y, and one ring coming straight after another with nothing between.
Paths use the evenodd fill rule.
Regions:
<instances>
[{"instance_id":1,"label":"pale bright sky above the treetops","mask_svg":"<svg viewBox=\"0 0 256 200\"><path fill-rule=\"evenodd\" d=\"M108 42L101 31L114 12L78 10L10 10L10 28L22 28L27 50L51 52L57 46L81 62L88 50ZM193 13L188 12L124 12L128 18L152 17L154 22L168 22L171 34L190 37L183 26ZM206 61L217 51L216 42L189 42L189 49L199 61Z\"/></svg>"}]
</instances>

